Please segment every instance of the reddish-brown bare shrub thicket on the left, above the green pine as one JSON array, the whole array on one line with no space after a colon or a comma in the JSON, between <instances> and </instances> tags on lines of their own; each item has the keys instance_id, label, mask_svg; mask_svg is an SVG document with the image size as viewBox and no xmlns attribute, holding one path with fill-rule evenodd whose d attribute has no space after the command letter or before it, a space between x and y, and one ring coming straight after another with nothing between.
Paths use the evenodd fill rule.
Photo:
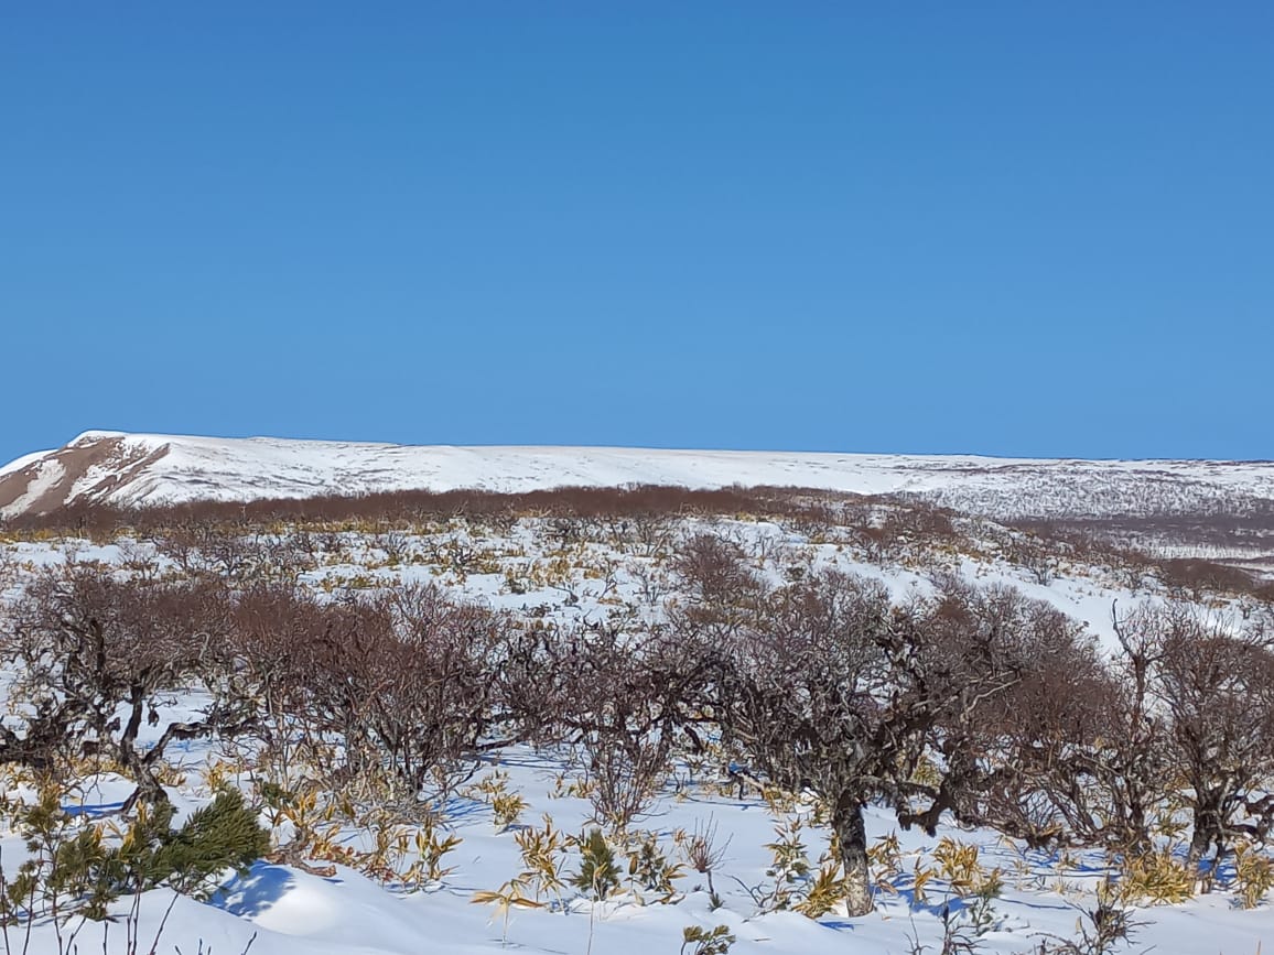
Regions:
<instances>
[{"instance_id":1,"label":"reddish-brown bare shrub thicket on the left, above the green pine","mask_svg":"<svg viewBox=\"0 0 1274 955\"><path fill-rule=\"evenodd\" d=\"M17 670L0 763L65 774L106 756L138 784L134 798L163 801L157 770L173 740L250 736L284 767L288 754L311 759L297 769L329 770L324 783L375 773L412 795L447 788L480 753L545 722L543 642L433 587L334 602L280 582L232 591L205 574L59 567L0 625ZM201 717L168 718L191 690L208 700ZM312 761L325 753L336 755Z\"/></svg>"}]
</instances>

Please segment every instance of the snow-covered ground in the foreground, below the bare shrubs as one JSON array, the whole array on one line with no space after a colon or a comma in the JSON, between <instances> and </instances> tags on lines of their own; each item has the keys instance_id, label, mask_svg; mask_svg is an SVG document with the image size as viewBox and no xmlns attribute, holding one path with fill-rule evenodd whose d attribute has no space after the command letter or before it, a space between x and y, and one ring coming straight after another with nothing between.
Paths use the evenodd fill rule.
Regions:
<instances>
[{"instance_id":1,"label":"snow-covered ground in the foreground, below the bare shrubs","mask_svg":"<svg viewBox=\"0 0 1274 955\"><path fill-rule=\"evenodd\" d=\"M510 788L530 803L522 825L541 828L541 816L566 833L589 828L586 800L554 796L561 765L524 751L501 755L498 767L507 773ZM113 793L117 798L122 792ZM799 809L781 819L808 817ZM713 908L706 879L688 872L675 880L676 895L660 902L645 890L620 891L603 903L590 903L578 890L566 893L558 905L552 894L541 896L543 908L513 908L507 927L503 913L490 904L475 904L478 891L498 890L522 871L515 831L497 833L488 806L457 800L448 812L451 831L462 842L448 853L454 872L426 889L385 886L357 870L338 866L333 875L312 875L289 866L259 863L247 877L233 879L209 903L201 904L172 893L155 890L143 899L139 935L144 946L159 937L159 951L182 952L209 947L222 955L237 955L251 941L252 955L418 955L419 952L498 952L513 949L544 955L650 955L678 952L683 930L726 926L736 938L730 947L739 955L907 955L915 946L940 952L943 913L975 952L1038 951L1041 942L1077 937L1085 924L1085 908L1096 904L1096 888L1103 871L1099 853L1073 853L1066 860L1047 852L1029 852L999 839L995 833L941 826L935 838L920 831L899 831L892 816L868 815L868 834L879 843L898 838L896 875L877 896L877 910L861 918L834 913L810 919L796 912L758 914L752 893L773 885L767 875L772 854L767 843L776 839L776 817L759 800L736 800L727 793L669 792L638 825L656 834L674 862L683 862L676 833L715 826L724 849L713 884L724 903ZM815 829L803 831L809 856L817 860L826 840ZM913 874L919 867L935 868L933 857L943 839L978 848L986 868L1001 870L1004 888L991 902L986 921L975 922L968 903L940 877L931 880L917 900ZM11 857L15 847L6 840ZM567 861L567 875L577 865ZM172 912L167 913L172 905ZM121 916L129 907L117 905ZM167 922L161 928L167 914ZM1142 909L1134 913L1140 924L1134 945L1117 951L1148 951L1162 955L1257 955L1259 946L1274 940L1274 912L1265 903L1241 910L1229 893L1215 893L1192 902ZM75 923L70 928L74 930ZM79 936L80 951L99 951L103 928L88 923ZM125 951L120 926L107 931L108 951ZM255 941L252 941L255 937ZM113 940L113 945L110 941ZM14 941L18 941L14 938ZM19 951L17 946L14 951ZM148 951L148 947L140 951ZM57 951L48 927L36 935L32 952ZM693 951L693 947L687 949Z\"/></svg>"}]
</instances>

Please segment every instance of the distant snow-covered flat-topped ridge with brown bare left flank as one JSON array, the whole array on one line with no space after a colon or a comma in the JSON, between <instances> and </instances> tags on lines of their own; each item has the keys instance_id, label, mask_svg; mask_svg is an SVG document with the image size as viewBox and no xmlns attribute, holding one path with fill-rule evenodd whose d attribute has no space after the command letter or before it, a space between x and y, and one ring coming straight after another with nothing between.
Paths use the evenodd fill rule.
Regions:
<instances>
[{"instance_id":1,"label":"distant snow-covered flat-topped ridge with brown bare left flank","mask_svg":"<svg viewBox=\"0 0 1274 955\"><path fill-rule=\"evenodd\" d=\"M1063 461L975 456L412 447L88 432L0 469L0 516L69 503L566 485L789 485L915 494L999 518L1274 512L1274 462Z\"/></svg>"}]
</instances>

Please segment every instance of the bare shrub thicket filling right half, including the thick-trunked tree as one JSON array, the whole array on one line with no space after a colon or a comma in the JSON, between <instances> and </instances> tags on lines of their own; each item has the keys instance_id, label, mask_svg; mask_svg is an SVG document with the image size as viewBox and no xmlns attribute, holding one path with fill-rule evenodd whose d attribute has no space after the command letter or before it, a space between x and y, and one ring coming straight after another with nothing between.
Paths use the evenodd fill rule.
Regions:
<instances>
[{"instance_id":1,"label":"bare shrub thicket filling right half, including the thick-trunked tree","mask_svg":"<svg viewBox=\"0 0 1274 955\"><path fill-rule=\"evenodd\" d=\"M1184 806L1189 862L1205 871L1274 825L1265 618L1148 606L1117 621L1107 657L1012 587L939 579L935 597L899 605L831 572L766 587L727 545L691 545L671 626L697 653L708 712L755 770L827 802L852 909L869 904L871 801L903 825L950 811L1029 844L1131 853Z\"/></svg>"}]
</instances>

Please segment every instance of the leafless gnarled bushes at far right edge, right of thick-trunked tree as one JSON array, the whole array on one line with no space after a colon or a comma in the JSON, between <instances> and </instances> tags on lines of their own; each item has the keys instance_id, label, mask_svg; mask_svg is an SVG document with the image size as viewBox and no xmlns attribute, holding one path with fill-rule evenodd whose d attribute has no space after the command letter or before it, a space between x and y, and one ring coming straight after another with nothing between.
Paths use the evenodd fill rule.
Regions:
<instances>
[{"instance_id":1,"label":"leafless gnarled bushes at far right edge, right of thick-trunked tree","mask_svg":"<svg viewBox=\"0 0 1274 955\"><path fill-rule=\"evenodd\" d=\"M1014 629L1022 632L1020 624ZM996 764L977 815L1032 842L1075 839L1138 854L1173 806L1190 815L1187 863L1274 826L1274 653L1198 609L1142 606L1115 621L1102 665L1074 648L1003 698L981 746ZM972 815L972 814L971 814Z\"/></svg>"}]
</instances>

